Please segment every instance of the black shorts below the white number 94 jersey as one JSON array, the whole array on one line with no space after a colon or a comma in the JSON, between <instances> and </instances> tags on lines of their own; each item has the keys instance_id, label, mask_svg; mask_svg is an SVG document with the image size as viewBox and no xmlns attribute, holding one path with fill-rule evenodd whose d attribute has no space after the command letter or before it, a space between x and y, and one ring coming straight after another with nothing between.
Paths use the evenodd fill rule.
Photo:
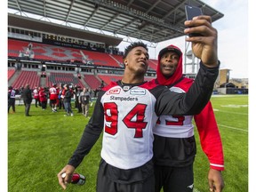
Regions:
<instances>
[{"instance_id":1,"label":"black shorts below the white number 94 jersey","mask_svg":"<svg viewBox=\"0 0 256 192\"><path fill-rule=\"evenodd\" d=\"M154 192L153 162L130 170L118 169L107 164L103 159L97 178L97 192Z\"/></svg>"}]
</instances>

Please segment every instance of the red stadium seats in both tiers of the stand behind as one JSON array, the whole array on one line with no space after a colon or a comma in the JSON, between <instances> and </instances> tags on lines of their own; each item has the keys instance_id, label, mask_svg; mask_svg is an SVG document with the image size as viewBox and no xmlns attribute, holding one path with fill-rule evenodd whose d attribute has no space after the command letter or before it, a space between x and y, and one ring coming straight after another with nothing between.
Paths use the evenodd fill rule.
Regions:
<instances>
[{"instance_id":1,"label":"red stadium seats in both tiers of the stand behind","mask_svg":"<svg viewBox=\"0 0 256 192\"><path fill-rule=\"evenodd\" d=\"M28 52L28 41L22 41L17 39L8 38L8 56L19 57L20 52ZM109 68L120 68L123 67L123 56L113 55L104 52L91 52L87 50L73 49L68 47L61 47L50 44L40 44L36 42L31 43L31 52L33 52L33 58L39 60L55 60L55 61L72 61L78 60L83 62L83 59L92 61L94 65ZM83 65L83 64L82 64ZM157 60L149 60L148 69L156 70ZM15 73L15 69L8 70L8 80ZM74 76L74 73L62 73L62 72L50 72L50 76L46 77L45 86L51 87L52 84L74 84L84 87L85 82L89 88L95 90L100 88L101 81L106 84L110 84L111 81L117 81L122 79L122 76L114 74L98 74L97 78L94 75L85 74L82 75L82 80ZM145 80L150 81L152 78L145 77ZM100 81L101 80L101 81ZM20 88L30 84L30 87L40 86L40 76L37 75L37 71L22 70L20 76L18 76L14 82L13 87Z\"/></svg>"}]
</instances>

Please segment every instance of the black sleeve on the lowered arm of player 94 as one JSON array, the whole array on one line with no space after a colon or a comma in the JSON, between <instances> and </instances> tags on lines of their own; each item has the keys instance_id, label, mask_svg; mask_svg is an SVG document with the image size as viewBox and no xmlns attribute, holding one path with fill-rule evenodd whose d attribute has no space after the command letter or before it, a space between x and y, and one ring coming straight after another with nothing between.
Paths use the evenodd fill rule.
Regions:
<instances>
[{"instance_id":1,"label":"black sleeve on the lowered arm of player 94","mask_svg":"<svg viewBox=\"0 0 256 192\"><path fill-rule=\"evenodd\" d=\"M89 123L84 128L84 133L82 138L73 153L73 156L69 159L68 164L73 165L75 168L81 164L90 150L92 149L93 145L100 137L100 133L103 130L104 125L104 111L103 107L100 103L100 99L104 92L99 93L99 97L95 103L95 107L93 110L92 118L90 119Z\"/></svg>"}]
</instances>

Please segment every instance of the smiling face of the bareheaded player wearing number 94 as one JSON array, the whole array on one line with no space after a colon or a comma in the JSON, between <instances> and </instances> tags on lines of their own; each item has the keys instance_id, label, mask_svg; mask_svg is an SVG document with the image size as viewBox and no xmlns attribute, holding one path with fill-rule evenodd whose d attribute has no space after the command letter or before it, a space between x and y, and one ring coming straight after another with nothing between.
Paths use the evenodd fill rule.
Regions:
<instances>
[{"instance_id":1,"label":"smiling face of the bareheaded player wearing number 94","mask_svg":"<svg viewBox=\"0 0 256 192\"><path fill-rule=\"evenodd\" d=\"M148 51L141 46L134 47L124 60L125 68L146 73L148 70Z\"/></svg>"}]
</instances>

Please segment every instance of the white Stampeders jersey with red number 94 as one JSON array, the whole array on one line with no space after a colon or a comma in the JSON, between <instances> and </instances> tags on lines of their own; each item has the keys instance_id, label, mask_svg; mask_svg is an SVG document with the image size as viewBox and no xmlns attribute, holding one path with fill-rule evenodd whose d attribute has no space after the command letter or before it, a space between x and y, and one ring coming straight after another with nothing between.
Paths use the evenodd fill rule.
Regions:
<instances>
[{"instance_id":1,"label":"white Stampeders jersey with red number 94","mask_svg":"<svg viewBox=\"0 0 256 192\"><path fill-rule=\"evenodd\" d=\"M105 108L101 156L108 164L131 169L153 156L151 127L157 120L153 112L156 98L139 86L124 90L125 87L114 86L101 98Z\"/></svg>"}]
</instances>

